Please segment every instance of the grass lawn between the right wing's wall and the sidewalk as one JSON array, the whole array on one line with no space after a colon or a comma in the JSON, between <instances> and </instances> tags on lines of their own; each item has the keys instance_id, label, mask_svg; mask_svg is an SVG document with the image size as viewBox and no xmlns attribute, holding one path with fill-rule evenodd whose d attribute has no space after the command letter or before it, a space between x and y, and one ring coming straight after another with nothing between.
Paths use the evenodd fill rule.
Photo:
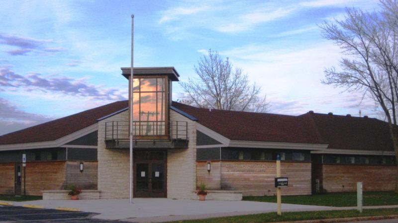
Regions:
<instances>
[{"instance_id":1,"label":"grass lawn between the right wing's wall and the sidewalk","mask_svg":"<svg viewBox=\"0 0 398 223\"><path fill-rule=\"evenodd\" d=\"M245 201L277 202L276 196L243 197ZM394 191L369 191L363 193L364 206L398 205ZM357 206L357 193L325 193L314 195L282 196L282 203L333 207Z\"/></svg>"}]
</instances>

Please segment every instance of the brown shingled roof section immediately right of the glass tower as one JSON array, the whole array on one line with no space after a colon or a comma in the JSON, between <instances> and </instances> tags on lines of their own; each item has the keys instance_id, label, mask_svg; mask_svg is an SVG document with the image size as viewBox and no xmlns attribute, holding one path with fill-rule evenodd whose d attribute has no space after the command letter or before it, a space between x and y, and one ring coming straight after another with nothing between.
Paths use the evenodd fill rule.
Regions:
<instances>
[{"instance_id":1,"label":"brown shingled roof section immediately right of the glass tower","mask_svg":"<svg viewBox=\"0 0 398 223\"><path fill-rule=\"evenodd\" d=\"M326 144L313 120L283 114L200 109L173 102L173 107L196 118L231 140Z\"/></svg>"}]
</instances>

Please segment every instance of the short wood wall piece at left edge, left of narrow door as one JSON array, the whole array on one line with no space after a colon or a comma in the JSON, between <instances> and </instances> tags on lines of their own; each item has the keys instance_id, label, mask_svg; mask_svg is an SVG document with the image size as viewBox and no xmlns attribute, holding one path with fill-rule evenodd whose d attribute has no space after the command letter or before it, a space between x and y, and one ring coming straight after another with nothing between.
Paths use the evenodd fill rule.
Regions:
<instances>
[{"instance_id":1,"label":"short wood wall piece at left edge, left of narrow door","mask_svg":"<svg viewBox=\"0 0 398 223\"><path fill-rule=\"evenodd\" d=\"M14 194L14 163L0 163L0 194Z\"/></svg>"}]
</instances>

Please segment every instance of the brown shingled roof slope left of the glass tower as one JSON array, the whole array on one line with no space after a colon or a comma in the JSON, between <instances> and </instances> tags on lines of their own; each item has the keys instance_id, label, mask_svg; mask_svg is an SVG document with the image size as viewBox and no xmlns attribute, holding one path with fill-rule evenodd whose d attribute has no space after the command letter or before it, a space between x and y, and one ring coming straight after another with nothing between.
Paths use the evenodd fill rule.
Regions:
<instances>
[{"instance_id":1,"label":"brown shingled roof slope left of the glass tower","mask_svg":"<svg viewBox=\"0 0 398 223\"><path fill-rule=\"evenodd\" d=\"M0 136L0 145L53 141L97 122L97 119L128 107L128 101L119 101L82 111Z\"/></svg>"}]
</instances>

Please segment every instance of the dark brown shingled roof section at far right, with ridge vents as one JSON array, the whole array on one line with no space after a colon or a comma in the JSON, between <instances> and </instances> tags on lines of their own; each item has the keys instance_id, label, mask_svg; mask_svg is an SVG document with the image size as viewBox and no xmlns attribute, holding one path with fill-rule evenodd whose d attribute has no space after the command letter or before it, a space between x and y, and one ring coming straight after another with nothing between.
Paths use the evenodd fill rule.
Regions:
<instances>
[{"instance_id":1,"label":"dark brown shingled roof section at far right, with ridge vents","mask_svg":"<svg viewBox=\"0 0 398 223\"><path fill-rule=\"evenodd\" d=\"M376 118L305 113L332 149L394 151L387 122Z\"/></svg>"}]
</instances>

